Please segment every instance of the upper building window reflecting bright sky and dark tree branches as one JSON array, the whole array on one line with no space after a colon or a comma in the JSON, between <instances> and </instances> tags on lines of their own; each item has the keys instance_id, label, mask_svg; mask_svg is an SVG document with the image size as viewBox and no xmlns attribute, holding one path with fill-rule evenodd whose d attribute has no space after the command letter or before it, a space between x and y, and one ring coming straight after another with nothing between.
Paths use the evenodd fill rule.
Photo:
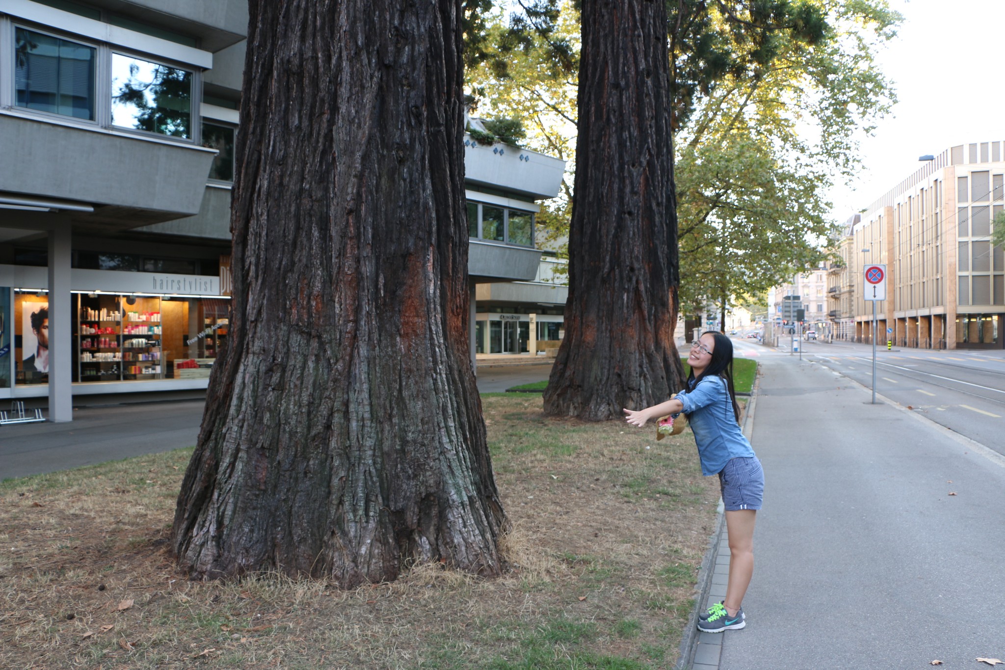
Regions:
<instances>
[{"instance_id":1,"label":"upper building window reflecting bright sky and dark tree branches","mask_svg":"<svg viewBox=\"0 0 1005 670\"><path fill-rule=\"evenodd\" d=\"M113 53L112 124L191 139L192 72Z\"/></svg>"}]
</instances>

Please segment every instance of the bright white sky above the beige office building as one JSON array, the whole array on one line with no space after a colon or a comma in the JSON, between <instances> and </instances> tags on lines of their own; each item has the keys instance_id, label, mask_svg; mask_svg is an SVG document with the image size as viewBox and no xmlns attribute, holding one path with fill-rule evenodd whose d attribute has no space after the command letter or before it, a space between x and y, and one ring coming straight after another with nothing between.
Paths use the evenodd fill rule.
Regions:
<instances>
[{"instance_id":1,"label":"bright white sky above the beige office building","mask_svg":"<svg viewBox=\"0 0 1005 670\"><path fill-rule=\"evenodd\" d=\"M950 147L1005 140L1005 0L890 0L903 15L877 54L897 103L871 137L859 136L862 171L829 195L834 222Z\"/></svg>"}]
</instances>

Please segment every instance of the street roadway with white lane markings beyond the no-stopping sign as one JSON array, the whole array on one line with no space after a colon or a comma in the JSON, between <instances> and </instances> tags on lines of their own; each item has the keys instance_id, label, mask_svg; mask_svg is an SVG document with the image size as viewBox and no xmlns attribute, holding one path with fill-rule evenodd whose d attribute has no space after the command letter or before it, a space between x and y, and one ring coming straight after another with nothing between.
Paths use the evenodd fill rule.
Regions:
<instances>
[{"instance_id":1,"label":"street roadway with white lane markings beyond the no-stopping sign","mask_svg":"<svg viewBox=\"0 0 1005 670\"><path fill-rule=\"evenodd\" d=\"M810 343L804 360L872 387L872 349ZM885 349L876 353L876 393L1005 454L1005 352Z\"/></svg>"}]
</instances>

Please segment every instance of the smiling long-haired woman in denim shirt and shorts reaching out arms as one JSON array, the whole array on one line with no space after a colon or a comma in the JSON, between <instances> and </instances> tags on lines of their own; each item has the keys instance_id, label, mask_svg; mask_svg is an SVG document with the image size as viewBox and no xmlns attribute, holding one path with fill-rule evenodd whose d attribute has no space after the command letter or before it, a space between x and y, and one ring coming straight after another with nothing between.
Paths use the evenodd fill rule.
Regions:
<instances>
[{"instance_id":1,"label":"smiling long-haired woman in denim shirt and shorts reaching out arms","mask_svg":"<svg viewBox=\"0 0 1005 670\"><path fill-rule=\"evenodd\" d=\"M701 473L719 475L730 535L730 580L726 600L698 616L698 630L722 633L747 625L741 607L754 574L754 519L761 508L764 470L740 430L740 407L733 388L733 343L708 331L691 344L687 388L665 403L639 412L625 410L633 426L683 412L694 432Z\"/></svg>"}]
</instances>

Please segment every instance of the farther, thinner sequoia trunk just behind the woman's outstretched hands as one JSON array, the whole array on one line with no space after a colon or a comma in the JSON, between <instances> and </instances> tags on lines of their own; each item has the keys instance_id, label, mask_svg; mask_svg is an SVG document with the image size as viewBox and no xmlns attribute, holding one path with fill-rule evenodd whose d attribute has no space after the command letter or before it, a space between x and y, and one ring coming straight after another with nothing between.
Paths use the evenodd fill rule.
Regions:
<instances>
[{"instance_id":1,"label":"farther, thinner sequoia trunk just behind the woman's outstretched hands","mask_svg":"<svg viewBox=\"0 0 1005 670\"><path fill-rule=\"evenodd\" d=\"M604 421L682 386L666 9L583 0L565 338L545 411Z\"/></svg>"}]
</instances>

